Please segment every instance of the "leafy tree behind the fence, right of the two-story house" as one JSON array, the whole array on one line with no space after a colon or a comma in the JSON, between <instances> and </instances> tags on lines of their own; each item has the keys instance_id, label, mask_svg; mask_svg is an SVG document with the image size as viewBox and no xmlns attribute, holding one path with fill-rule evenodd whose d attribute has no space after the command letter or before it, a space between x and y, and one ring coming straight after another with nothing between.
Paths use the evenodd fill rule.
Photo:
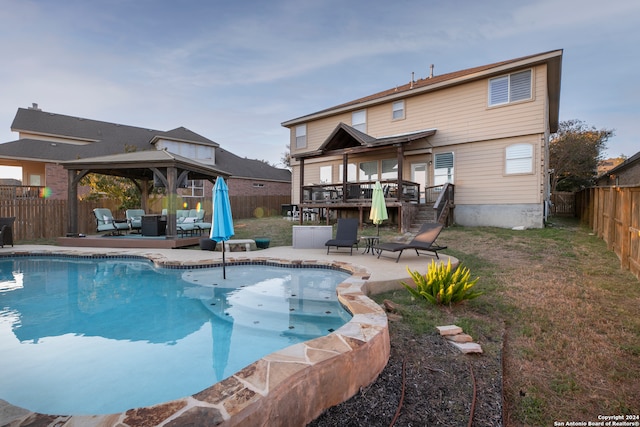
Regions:
<instances>
[{"instance_id":1,"label":"leafy tree behind the fence, right of the two-story house","mask_svg":"<svg viewBox=\"0 0 640 427\"><path fill-rule=\"evenodd\" d=\"M560 122L549 143L551 192L577 191L592 185L611 129L596 129L581 120Z\"/></svg>"}]
</instances>

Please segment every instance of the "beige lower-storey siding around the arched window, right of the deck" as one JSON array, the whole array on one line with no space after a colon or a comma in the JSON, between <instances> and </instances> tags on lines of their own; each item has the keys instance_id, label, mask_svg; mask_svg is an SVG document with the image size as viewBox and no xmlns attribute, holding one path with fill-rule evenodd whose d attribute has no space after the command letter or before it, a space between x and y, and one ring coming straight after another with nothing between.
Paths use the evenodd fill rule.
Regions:
<instances>
[{"instance_id":1,"label":"beige lower-storey siding around the arched window, right of the deck","mask_svg":"<svg viewBox=\"0 0 640 427\"><path fill-rule=\"evenodd\" d=\"M528 143L534 147L533 173L505 174L505 150ZM542 203L539 138L509 138L458 145L454 149L456 204Z\"/></svg>"}]
</instances>

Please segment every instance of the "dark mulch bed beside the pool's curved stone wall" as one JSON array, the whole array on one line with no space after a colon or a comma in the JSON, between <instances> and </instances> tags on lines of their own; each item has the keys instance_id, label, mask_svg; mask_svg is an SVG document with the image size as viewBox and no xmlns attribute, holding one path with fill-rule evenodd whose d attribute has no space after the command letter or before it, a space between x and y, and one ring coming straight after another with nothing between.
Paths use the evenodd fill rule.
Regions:
<instances>
[{"instance_id":1,"label":"dark mulch bed beside the pool's curved stone wall","mask_svg":"<svg viewBox=\"0 0 640 427\"><path fill-rule=\"evenodd\" d=\"M502 334L492 335L474 336L483 354L466 355L435 330L391 320L391 356L376 381L309 426L459 427L472 412L474 426L502 426Z\"/></svg>"}]
</instances>

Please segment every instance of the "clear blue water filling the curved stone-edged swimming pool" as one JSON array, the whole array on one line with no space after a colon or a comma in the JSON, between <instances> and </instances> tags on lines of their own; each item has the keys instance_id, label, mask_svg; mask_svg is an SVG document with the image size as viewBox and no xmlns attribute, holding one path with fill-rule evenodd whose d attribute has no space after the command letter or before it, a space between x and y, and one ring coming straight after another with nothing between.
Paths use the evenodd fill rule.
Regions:
<instances>
[{"instance_id":1,"label":"clear blue water filling the curved stone-edged swimming pool","mask_svg":"<svg viewBox=\"0 0 640 427\"><path fill-rule=\"evenodd\" d=\"M0 258L0 399L107 414L188 396L351 319L348 274L264 265Z\"/></svg>"}]
</instances>

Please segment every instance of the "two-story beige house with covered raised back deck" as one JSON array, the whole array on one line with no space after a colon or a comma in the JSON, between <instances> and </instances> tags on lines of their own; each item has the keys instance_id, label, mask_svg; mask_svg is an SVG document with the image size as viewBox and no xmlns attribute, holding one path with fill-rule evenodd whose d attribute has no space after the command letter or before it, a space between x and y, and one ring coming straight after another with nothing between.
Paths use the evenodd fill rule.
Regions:
<instances>
[{"instance_id":1,"label":"two-story beige house with covered raised back deck","mask_svg":"<svg viewBox=\"0 0 640 427\"><path fill-rule=\"evenodd\" d=\"M432 220L543 227L561 66L562 50L554 50L432 72L282 123L290 129L293 203L366 221L380 181L402 230L444 193L451 205Z\"/></svg>"}]
</instances>

